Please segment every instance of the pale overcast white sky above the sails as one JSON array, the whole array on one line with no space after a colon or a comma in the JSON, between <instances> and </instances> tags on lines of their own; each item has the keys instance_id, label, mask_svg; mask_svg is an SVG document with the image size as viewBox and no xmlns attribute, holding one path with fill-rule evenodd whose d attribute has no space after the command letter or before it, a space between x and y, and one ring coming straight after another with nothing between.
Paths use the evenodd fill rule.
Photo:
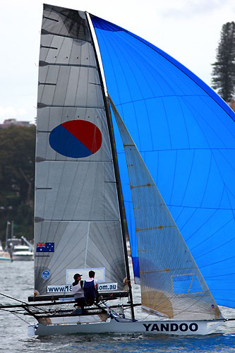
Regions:
<instances>
[{"instance_id":1,"label":"pale overcast white sky above the sails","mask_svg":"<svg viewBox=\"0 0 235 353\"><path fill-rule=\"evenodd\" d=\"M48 0L88 11L155 44L211 85L222 25L234 0ZM0 0L0 124L35 121L42 0Z\"/></svg>"}]
</instances>

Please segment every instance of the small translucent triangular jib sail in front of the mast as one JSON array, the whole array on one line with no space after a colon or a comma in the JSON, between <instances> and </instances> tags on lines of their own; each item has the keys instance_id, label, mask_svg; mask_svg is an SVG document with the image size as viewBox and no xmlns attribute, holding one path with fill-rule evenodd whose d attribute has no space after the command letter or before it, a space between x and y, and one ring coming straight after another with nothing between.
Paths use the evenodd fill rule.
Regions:
<instances>
[{"instance_id":1,"label":"small translucent triangular jib sail in front of the mast","mask_svg":"<svg viewBox=\"0 0 235 353\"><path fill-rule=\"evenodd\" d=\"M126 155L143 309L180 320L217 319L219 308L111 98Z\"/></svg>"}]
</instances>

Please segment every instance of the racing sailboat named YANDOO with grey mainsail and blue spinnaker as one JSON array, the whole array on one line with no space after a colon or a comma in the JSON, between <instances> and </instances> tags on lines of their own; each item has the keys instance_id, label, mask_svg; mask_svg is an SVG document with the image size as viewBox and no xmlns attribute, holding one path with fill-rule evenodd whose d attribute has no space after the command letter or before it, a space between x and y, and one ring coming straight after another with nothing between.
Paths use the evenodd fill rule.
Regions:
<instances>
[{"instance_id":1,"label":"racing sailboat named YANDOO with grey mainsail and blue spinnaker","mask_svg":"<svg viewBox=\"0 0 235 353\"><path fill-rule=\"evenodd\" d=\"M83 11L44 4L39 66L35 293L0 309L33 316L32 335L212 332L235 307L234 112ZM90 270L101 300L77 313L73 275Z\"/></svg>"}]
</instances>

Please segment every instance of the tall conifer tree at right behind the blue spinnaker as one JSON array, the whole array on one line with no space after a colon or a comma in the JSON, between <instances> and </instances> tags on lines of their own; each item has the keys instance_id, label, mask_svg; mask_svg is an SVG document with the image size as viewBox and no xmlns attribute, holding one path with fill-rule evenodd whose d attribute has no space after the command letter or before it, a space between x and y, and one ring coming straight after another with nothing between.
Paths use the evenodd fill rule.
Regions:
<instances>
[{"instance_id":1,"label":"tall conifer tree at right behind the blue spinnaker","mask_svg":"<svg viewBox=\"0 0 235 353\"><path fill-rule=\"evenodd\" d=\"M222 26L216 61L212 64L212 88L229 102L235 92L235 23Z\"/></svg>"}]
</instances>

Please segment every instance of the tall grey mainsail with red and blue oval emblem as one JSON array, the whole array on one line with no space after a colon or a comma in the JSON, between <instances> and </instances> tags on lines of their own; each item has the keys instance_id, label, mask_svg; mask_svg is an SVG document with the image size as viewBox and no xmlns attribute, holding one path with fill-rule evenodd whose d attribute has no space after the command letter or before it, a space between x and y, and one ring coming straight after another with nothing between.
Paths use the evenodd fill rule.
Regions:
<instances>
[{"instance_id":1,"label":"tall grey mainsail with red and blue oval emblem","mask_svg":"<svg viewBox=\"0 0 235 353\"><path fill-rule=\"evenodd\" d=\"M67 291L74 273L88 276L90 268L121 290L126 269L116 179L83 12L44 5L39 81L35 290Z\"/></svg>"}]
</instances>

